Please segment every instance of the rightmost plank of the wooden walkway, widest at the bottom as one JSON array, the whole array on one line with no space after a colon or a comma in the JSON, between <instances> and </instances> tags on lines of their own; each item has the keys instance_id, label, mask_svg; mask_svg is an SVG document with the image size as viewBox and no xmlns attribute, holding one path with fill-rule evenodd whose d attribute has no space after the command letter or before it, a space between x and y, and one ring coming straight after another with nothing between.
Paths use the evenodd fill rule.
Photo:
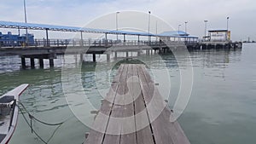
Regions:
<instances>
[{"instance_id":1,"label":"rightmost plank of the wooden walkway, widest at the bottom","mask_svg":"<svg viewBox=\"0 0 256 144\"><path fill-rule=\"evenodd\" d=\"M171 142L173 144L189 144L189 140L183 134L183 130L181 130L179 124L177 122L170 122L171 111L165 106L158 89L154 89L154 83L145 67L142 66L140 69L143 72L140 72L142 83L145 83L141 83L143 85L143 95L145 99L151 100L150 104L146 103L146 105L148 107L149 119L152 122L156 144L166 144ZM146 84L148 84L148 87ZM151 107L149 105L151 105ZM159 112L160 115L154 119Z\"/></svg>"}]
</instances>

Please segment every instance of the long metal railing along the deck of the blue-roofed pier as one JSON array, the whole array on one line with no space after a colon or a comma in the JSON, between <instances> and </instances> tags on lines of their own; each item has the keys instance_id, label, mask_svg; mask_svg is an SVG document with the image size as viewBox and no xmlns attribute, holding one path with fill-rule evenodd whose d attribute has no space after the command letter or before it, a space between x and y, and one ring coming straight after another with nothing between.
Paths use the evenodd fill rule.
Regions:
<instances>
[{"instance_id":1,"label":"long metal railing along the deck of the blue-roofed pier","mask_svg":"<svg viewBox=\"0 0 256 144\"><path fill-rule=\"evenodd\" d=\"M110 46L164 46L168 44L191 44L198 43L196 41L137 41L137 40L112 40L112 39L89 39L89 40L78 40L78 39L35 39L32 42L15 41L15 40L1 40L0 48L9 47L61 47L61 46L95 46L95 47L110 47Z\"/></svg>"}]
</instances>

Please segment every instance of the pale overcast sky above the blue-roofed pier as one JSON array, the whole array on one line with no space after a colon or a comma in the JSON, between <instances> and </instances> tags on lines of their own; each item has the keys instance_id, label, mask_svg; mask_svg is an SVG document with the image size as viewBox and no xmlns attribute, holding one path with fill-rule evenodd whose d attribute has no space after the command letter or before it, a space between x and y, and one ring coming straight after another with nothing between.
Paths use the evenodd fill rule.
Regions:
<instances>
[{"instance_id":1,"label":"pale overcast sky above the blue-roofed pier","mask_svg":"<svg viewBox=\"0 0 256 144\"><path fill-rule=\"evenodd\" d=\"M0 0L0 3L0 20L24 21L23 0ZM256 40L255 0L26 0L27 21L31 23L92 26L86 24L111 13L114 20L116 11L128 10L145 13L150 10L173 29L183 24L180 27L183 31L184 21L189 21L188 32L198 37L204 35L204 20L208 20L208 29L226 29L229 16L231 39Z\"/></svg>"}]
</instances>

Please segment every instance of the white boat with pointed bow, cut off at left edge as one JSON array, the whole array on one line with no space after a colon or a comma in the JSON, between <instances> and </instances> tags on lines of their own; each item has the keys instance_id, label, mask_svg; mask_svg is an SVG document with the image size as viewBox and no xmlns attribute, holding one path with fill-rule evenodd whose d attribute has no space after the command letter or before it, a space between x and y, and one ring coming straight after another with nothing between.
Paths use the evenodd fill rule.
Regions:
<instances>
[{"instance_id":1,"label":"white boat with pointed bow, cut off at left edge","mask_svg":"<svg viewBox=\"0 0 256 144\"><path fill-rule=\"evenodd\" d=\"M0 97L0 143L9 143L15 132L19 107L18 102L28 84L21 84Z\"/></svg>"}]
</instances>

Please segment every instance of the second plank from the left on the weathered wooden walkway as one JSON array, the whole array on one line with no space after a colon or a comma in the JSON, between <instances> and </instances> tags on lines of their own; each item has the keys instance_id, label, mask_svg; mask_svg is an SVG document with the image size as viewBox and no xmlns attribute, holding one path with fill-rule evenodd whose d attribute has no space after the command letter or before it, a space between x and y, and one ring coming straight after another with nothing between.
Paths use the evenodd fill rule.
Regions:
<instances>
[{"instance_id":1,"label":"second plank from the left on the weathered wooden walkway","mask_svg":"<svg viewBox=\"0 0 256 144\"><path fill-rule=\"evenodd\" d=\"M114 100L112 107L112 112L107 127L107 134L102 142L102 144L117 144L120 142L120 135L122 130L122 121L119 118L122 117L123 107L122 102L124 100L125 94L125 82L128 71L128 65L124 65L122 75L119 79L119 88L117 89L117 95Z\"/></svg>"}]
</instances>

